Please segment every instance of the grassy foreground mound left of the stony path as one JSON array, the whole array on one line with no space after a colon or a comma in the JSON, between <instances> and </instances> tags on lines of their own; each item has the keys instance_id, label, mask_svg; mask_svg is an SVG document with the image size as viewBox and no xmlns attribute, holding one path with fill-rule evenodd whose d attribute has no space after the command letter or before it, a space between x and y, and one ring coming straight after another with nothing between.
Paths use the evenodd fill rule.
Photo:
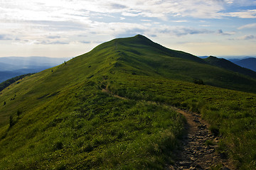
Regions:
<instances>
[{"instance_id":1,"label":"grassy foreground mound left of the stony path","mask_svg":"<svg viewBox=\"0 0 256 170\"><path fill-rule=\"evenodd\" d=\"M63 103L51 101L16 118L0 142L6 146L1 168L163 169L170 162L183 130L181 115L92 87L68 96L56 96L55 101L65 98ZM73 102L78 105L70 111Z\"/></svg>"}]
</instances>

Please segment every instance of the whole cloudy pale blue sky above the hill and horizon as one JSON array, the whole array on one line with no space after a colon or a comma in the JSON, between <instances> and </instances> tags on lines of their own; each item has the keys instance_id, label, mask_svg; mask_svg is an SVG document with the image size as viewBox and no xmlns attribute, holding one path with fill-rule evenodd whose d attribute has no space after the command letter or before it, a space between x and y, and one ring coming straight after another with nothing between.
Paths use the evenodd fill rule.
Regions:
<instances>
[{"instance_id":1,"label":"whole cloudy pale blue sky above the hill and horizon","mask_svg":"<svg viewBox=\"0 0 256 170\"><path fill-rule=\"evenodd\" d=\"M256 56L256 0L0 1L0 57L75 57L137 34L198 56Z\"/></svg>"}]
</instances>

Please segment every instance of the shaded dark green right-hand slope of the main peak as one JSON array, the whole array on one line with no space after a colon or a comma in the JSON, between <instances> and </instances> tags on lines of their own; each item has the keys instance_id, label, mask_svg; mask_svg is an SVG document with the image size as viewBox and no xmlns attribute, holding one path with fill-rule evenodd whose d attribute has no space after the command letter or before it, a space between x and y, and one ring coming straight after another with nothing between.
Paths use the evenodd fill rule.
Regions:
<instances>
[{"instance_id":1,"label":"shaded dark green right-hand slope of the main peak","mask_svg":"<svg viewBox=\"0 0 256 170\"><path fill-rule=\"evenodd\" d=\"M135 36L111 41L116 42L117 52L119 52L116 72L188 82L192 82L193 79L202 79L210 86L256 93L256 79L252 77L210 65L186 52L163 51L161 45L144 39Z\"/></svg>"}]
</instances>

